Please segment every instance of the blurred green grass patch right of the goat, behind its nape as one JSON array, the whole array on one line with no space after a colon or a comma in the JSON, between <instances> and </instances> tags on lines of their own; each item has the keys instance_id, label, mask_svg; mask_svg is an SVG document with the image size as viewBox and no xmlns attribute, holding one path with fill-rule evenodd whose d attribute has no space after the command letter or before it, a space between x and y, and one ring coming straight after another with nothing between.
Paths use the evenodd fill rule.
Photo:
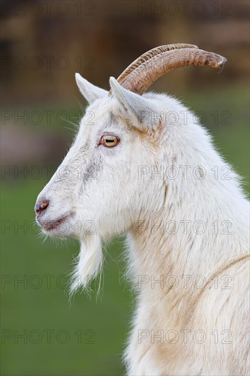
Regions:
<instances>
[{"instance_id":1,"label":"blurred green grass patch right of the goat, behind its nape","mask_svg":"<svg viewBox=\"0 0 250 376\"><path fill-rule=\"evenodd\" d=\"M215 98L214 98L215 97ZM186 103L206 116L204 125L210 131L217 150L242 176L249 192L249 89L236 86L217 92L189 94Z\"/></svg>"}]
</instances>

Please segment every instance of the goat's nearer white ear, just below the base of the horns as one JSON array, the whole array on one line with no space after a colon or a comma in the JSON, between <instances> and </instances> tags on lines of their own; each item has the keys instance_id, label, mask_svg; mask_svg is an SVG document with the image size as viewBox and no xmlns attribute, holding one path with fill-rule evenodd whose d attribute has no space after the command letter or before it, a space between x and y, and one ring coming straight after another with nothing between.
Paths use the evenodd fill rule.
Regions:
<instances>
[{"instance_id":1,"label":"goat's nearer white ear, just below the base of the horns","mask_svg":"<svg viewBox=\"0 0 250 376\"><path fill-rule=\"evenodd\" d=\"M160 112L156 109L152 100L123 88L113 77L110 77L109 83L113 96L117 98L125 110L125 116L139 131L147 132L156 129L161 124Z\"/></svg>"}]
</instances>

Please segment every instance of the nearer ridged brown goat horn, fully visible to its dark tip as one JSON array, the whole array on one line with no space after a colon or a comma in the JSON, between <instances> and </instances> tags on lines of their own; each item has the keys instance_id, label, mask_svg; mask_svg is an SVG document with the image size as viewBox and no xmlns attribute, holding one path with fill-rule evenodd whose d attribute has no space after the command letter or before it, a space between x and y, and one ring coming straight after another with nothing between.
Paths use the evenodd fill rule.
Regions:
<instances>
[{"instance_id":1,"label":"nearer ridged brown goat horn, fully visible to its dark tip","mask_svg":"<svg viewBox=\"0 0 250 376\"><path fill-rule=\"evenodd\" d=\"M130 72L124 81L122 81L122 86L131 92L143 94L154 81L165 75L169 70L175 70L189 65L208 65L213 68L219 68L226 62L227 59L221 55L199 49L182 48L165 51L147 59L141 65L137 66L137 68Z\"/></svg>"}]
</instances>

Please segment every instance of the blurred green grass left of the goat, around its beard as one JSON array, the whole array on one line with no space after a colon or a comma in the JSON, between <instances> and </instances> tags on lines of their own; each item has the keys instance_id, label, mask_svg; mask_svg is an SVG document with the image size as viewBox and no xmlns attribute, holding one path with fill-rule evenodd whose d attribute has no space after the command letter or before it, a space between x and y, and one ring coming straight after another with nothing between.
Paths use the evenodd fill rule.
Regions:
<instances>
[{"instance_id":1,"label":"blurred green grass left of the goat, around its beard","mask_svg":"<svg viewBox=\"0 0 250 376\"><path fill-rule=\"evenodd\" d=\"M84 294L76 295L70 306L63 287L79 245L73 241L58 245L51 239L42 243L37 234L18 228L25 220L28 225L33 222L33 204L44 183L27 181L2 191L2 220L16 224L10 230L2 228L1 375L120 375L130 317L130 294L126 284L120 284L124 270L121 241L109 247L100 297L96 300L92 293L90 300ZM52 276L51 286L46 275ZM18 283L25 276L27 286ZM5 339L3 330L11 330L12 338ZM15 343L14 330L18 334L27 330L27 343L22 338ZM44 330L55 330L50 344ZM67 331L67 343L60 343L62 332L57 340L59 330ZM79 330L81 340L76 334ZM92 333L94 343L87 343ZM42 340L33 343L39 334Z\"/></svg>"}]
</instances>

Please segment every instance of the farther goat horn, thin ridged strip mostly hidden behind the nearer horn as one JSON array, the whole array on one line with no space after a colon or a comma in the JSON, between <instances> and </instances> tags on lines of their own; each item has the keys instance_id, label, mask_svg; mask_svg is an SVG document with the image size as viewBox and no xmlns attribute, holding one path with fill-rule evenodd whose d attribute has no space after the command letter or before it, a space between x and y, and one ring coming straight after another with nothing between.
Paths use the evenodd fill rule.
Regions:
<instances>
[{"instance_id":1,"label":"farther goat horn, thin ridged strip mostly hidden behind the nearer horn","mask_svg":"<svg viewBox=\"0 0 250 376\"><path fill-rule=\"evenodd\" d=\"M140 57L135 59L133 63L131 63L123 72L122 74L117 78L117 81L122 84L124 79L128 75L130 75L135 68L140 66L141 64L145 63L147 60L152 59L152 57L159 55L160 53L166 52L166 51L171 51L171 50L176 50L176 49L198 49L197 46L194 44L185 44L185 43L177 43L177 44L165 44L163 46L158 46L155 47L154 49L143 53Z\"/></svg>"}]
</instances>

